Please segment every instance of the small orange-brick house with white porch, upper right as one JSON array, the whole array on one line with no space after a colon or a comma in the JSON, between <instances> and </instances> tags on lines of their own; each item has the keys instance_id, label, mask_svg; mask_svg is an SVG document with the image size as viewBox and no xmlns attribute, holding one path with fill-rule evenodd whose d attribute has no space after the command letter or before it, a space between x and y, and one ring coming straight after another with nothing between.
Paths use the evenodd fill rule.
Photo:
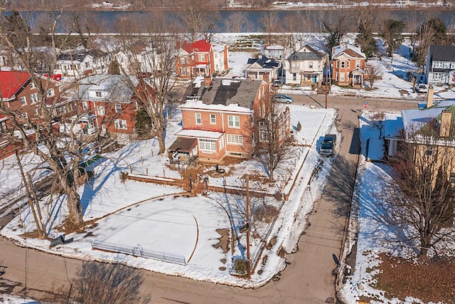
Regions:
<instances>
[{"instance_id":1,"label":"small orange-brick house with white porch, upper right","mask_svg":"<svg viewBox=\"0 0 455 304\"><path fill-rule=\"evenodd\" d=\"M343 42L332 48L332 79L338 85L360 87L365 77L365 53Z\"/></svg>"}]
</instances>

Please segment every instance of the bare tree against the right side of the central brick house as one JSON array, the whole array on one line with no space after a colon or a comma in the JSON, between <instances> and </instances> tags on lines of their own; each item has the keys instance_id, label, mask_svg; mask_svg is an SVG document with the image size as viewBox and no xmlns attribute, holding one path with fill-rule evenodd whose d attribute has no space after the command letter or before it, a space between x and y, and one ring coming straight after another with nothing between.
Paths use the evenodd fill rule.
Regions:
<instances>
[{"instance_id":1,"label":"bare tree against the right side of the central brick house","mask_svg":"<svg viewBox=\"0 0 455 304\"><path fill-rule=\"evenodd\" d=\"M267 95L264 117L259 120L255 148L257 160L267 170L269 178L274 179L274 171L290 156L291 137L289 137L289 108Z\"/></svg>"}]
</instances>

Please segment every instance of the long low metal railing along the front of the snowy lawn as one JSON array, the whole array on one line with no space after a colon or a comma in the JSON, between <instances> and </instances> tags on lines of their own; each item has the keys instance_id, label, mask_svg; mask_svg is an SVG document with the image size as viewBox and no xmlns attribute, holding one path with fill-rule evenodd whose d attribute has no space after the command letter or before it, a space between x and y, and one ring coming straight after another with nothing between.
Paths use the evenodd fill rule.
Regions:
<instances>
[{"instance_id":1,"label":"long low metal railing along the front of the snowy lawn","mask_svg":"<svg viewBox=\"0 0 455 304\"><path fill-rule=\"evenodd\" d=\"M168 263L174 263L178 265L186 266L186 259L184 256L177 256L170 253L153 252L147 251L142 248L141 245L134 247L122 246L113 243L106 243L103 241L93 241L92 248L100 249L104 251L111 251L117 253L128 254L129 256L139 256L141 258L153 258L154 260L164 261Z\"/></svg>"}]
</instances>

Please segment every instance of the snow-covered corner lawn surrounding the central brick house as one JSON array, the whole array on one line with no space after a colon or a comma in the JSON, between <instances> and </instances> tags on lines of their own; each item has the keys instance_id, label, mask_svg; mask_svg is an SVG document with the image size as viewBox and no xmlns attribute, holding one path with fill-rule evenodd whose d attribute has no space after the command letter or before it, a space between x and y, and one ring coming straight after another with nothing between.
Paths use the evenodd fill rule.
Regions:
<instances>
[{"instance_id":1,"label":"snow-covered corner lawn surrounding the central brick house","mask_svg":"<svg viewBox=\"0 0 455 304\"><path fill-rule=\"evenodd\" d=\"M73 238L72 243L50 248L50 241L27 239L27 246L75 258L118 261L137 268L202 281L250 286L264 284L284 268L284 260L276 254L277 246L296 246L295 241L284 241L298 239L294 236L298 236L304 228L304 216L311 211L314 200L321 194L333 163L333 158L324 158L326 161L321 165L321 156L316 145L326 132L333 132L336 111L303 105L290 105L289 108L294 137L299 145L293 148L291 159L276 170L275 182L251 183L252 189L269 194L289 194L289 200L284 204L274 199L274 196L251 199L252 214L264 205L279 211L277 219L272 223L253 219L252 257L258 259L257 270L261 271L260 274L255 272L252 281L230 275L232 258L245 258L245 233L242 230L245 226L244 197L215 192L206 196L187 196L183 195L186 192L183 193L183 189L178 187L132 180L122 182L120 172L181 178L181 172L167 167L167 157L157 154L158 147L154 139L132 142L121 150L103 155L97 162L94 168L95 178L83 184L79 191L85 221L95 222L87 226L82 233L65 236L65 239ZM167 146L175 140L174 134L181 129L180 121L181 115L177 113L168 125ZM298 122L301 122L299 132L295 130ZM320 167L319 174L311 177L316 166ZM17 167L14 169L17 170ZM226 166L225 169L225 179L209 177L209 184L243 187L245 173L267 178L264 169L254 159L231 167ZM1 178L5 177L3 174L6 174L6 171L1 172ZM307 184L311 178L313 180L309 189ZM18 188L20 182L14 179L10 187ZM41 203L41 207L48 234L51 237L58 236L60 232L56 229L68 214L65 199L60 197L55 201L46 200ZM296 213L301 210L304 212ZM294 222L294 214L302 216ZM1 230L1 234L23 243L21 235L35 229L36 224L30 210L23 208L20 215ZM218 229L228 231L230 240L235 239L233 242L224 240L228 241L228 250L214 247L222 234ZM262 239L268 242L273 237L277 237L279 241L271 249L264 248ZM136 252L168 253L170 256L184 258L186 265L94 250L94 241L134 249ZM262 256L268 256L266 264L259 260L261 253Z\"/></svg>"}]
</instances>

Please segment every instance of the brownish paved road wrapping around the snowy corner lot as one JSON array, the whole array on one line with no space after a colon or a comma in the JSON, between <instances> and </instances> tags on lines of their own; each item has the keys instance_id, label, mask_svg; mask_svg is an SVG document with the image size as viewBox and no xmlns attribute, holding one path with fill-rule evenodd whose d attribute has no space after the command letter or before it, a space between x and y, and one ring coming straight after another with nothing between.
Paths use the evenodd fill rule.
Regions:
<instances>
[{"instance_id":1,"label":"brownish paved road wrapping around the snowy corner lot","mask_svg":"<svg viewBox=\"0 0 455 304\"><path fill-rule=\"evenodd\" d=\"M294 103L323 106L324 96L294 96ZM151 303L326 303L335 298L333 255L339 256L343 228L350 200L350 189L358 154L358 115L363 103L368 110L400 110L417 108L416 102L397 100L358 100L328 98L328 106L337 108L337 127L342 132L340 154L333 166L323 195L316 201L311 226L299 239L299 251L287 255L289 266L262 288L243 289L186 278L141 271L144 274L142 293L151 295ZM20 293L26 285L27 295L42 298L43 290L67 288L82 261L14 246L0 239L0 265L8 266L3 278L16 283L9 287ZM1 287L1 279L0 279Z\"/></svg>"}]
</instances>

